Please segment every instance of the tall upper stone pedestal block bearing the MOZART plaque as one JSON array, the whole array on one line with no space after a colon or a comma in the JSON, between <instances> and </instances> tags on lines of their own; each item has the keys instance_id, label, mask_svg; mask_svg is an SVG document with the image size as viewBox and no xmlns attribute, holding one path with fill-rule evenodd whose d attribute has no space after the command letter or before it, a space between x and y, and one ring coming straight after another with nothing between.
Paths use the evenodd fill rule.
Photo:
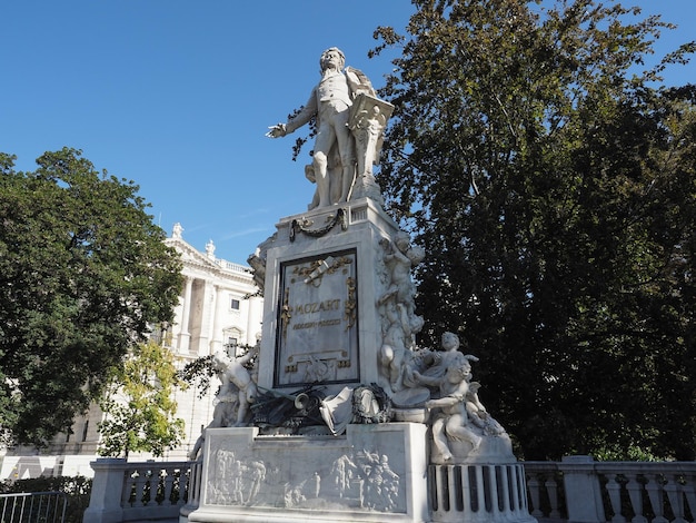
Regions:
<instances>
[{"instance_id":1,"label":"tall upper stone pedestal block bearing the MOZART plaque","mask_svg":"<svg viewBox=\"0 0 696 523\"><path fill-rule=\"evenodd\" d=\"M386 275L379 241L397 226L371 199L290 216L267 241L258 384L327 395L378 382Z\"/></svg>"}]
</instances>

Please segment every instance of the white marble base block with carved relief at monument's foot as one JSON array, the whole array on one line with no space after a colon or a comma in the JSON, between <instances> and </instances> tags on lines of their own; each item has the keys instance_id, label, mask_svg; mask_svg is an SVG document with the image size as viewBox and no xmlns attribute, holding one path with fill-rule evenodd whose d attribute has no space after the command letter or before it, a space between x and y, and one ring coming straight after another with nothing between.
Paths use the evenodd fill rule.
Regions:
<instances>
[{"instance_id":1,"label":"white marble base block with carved relief at monument's foot","mask_svg":"<svg viewBox=\"0 0 696 523\"><path fill-rule=\"evenodd\" d=\"M348 425L339 437L208 430L188 521L427 522L426 448L417 423Z\"/></svg>"}]
</instances>

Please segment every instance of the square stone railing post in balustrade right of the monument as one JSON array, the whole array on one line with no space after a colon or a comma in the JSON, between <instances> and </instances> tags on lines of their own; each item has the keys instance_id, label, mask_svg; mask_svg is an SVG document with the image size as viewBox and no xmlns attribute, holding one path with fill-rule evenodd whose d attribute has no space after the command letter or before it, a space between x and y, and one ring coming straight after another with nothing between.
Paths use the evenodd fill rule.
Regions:
<instances>
[{"instance_id":1,"label":"square stone railing post in balustrade right of the monument","mask_svg":"<svg viewBox=\"0 0 696 523\"><path fill-rule=\"evenodd\" d=\"M558 464L566 491L568 523L604 523L599 477L591 456L564 456Z\"/></svg>"}]
</instances>

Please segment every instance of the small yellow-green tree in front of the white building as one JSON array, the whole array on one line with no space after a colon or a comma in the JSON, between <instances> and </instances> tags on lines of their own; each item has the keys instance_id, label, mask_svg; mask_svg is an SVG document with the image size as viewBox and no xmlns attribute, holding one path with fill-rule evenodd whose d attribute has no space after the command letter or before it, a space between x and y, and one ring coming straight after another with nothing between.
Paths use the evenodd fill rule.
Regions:
<instances>
[{"instance_id":1,"label":"small yellow-green tree in front of the white building","mask_svg":"<svg viewBox=\"0 0 696 523\"><path fill-rule=\"evenodd\" d=\"M183 387L171 352L155 342L138 344L118 369L100 402L99 454L128 457L131 452L161 456L183 436L173 393Z\"/></svg>"}]
</instances>

